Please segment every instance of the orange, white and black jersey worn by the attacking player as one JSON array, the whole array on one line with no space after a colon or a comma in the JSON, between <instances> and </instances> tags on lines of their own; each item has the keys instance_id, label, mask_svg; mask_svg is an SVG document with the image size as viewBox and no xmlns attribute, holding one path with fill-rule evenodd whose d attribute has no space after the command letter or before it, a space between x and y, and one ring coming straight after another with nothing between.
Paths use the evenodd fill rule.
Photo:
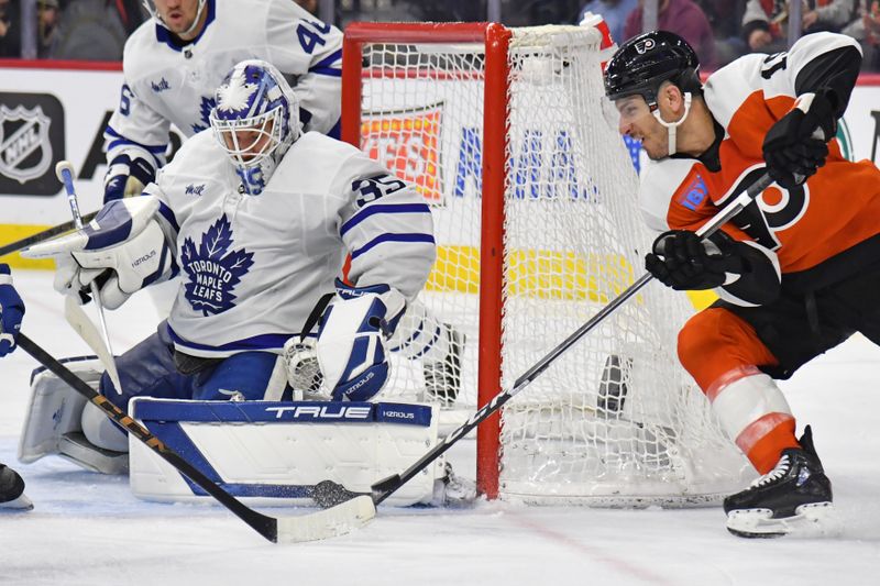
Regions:
<instances>
[{"instance_id":1,"label":"orange, white and black jersey worn by the attacking player","mask_svg":"<svg viewBox=\"0 0 880 586\"><path fill-rule=\"evenodd\" d=\"M680 155L649 164L639 194L648 225L696 230L754 183L763 173L767 131L791 110L799 92L817 89L803 87L805 77L815 77L811 64L816 69L823 55L847 45L858 49L846 36L812 34L788 53L747 55L710 76L704 98L724 129L721 169ZM850 91L851 86L845 88L847 99ZM724 226L733 237L758 245L778 264L783 285L799 289L835 278L840 265L854 272L880 261L880 237L875 237L880 234L880 170L870 161L846 161L836 140L828 150L825 166L804 185L785 190L773 184ZM724 289L717 292L752 305Z\"/></svg>"}]
</instances>

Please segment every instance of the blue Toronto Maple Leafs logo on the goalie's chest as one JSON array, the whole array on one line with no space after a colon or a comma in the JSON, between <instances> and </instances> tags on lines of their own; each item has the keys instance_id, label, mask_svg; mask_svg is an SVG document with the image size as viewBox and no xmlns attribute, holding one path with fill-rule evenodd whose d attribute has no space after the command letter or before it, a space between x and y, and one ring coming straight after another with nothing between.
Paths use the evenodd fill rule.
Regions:
<instances>
[{"instance_id":1,"label":"blue Toronto Maple Leafs logo on the goalie's chest","mask_svg":"<svg viewBox=\"0 0 880 586\"><path fill-rule=\"evenodd\" d=\"M222 313L235 306L232 289L254 264L254 253L232 250L232 228L223 214L201 235L198 250L191 239L184 241L180 259L189 276L185 295L204 316Z\"/></svg>"}]
</instances>

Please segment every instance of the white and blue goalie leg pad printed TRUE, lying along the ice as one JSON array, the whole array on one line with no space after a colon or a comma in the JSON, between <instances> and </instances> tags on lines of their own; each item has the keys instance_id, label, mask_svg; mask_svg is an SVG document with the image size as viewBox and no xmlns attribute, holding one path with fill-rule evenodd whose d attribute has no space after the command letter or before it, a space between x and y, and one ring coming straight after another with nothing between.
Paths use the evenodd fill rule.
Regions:
<instances>
[{"instance_id":1,"label":"white and blue goalie leg pad printed TRUE, lying along the ice","mask_svg":"<svg viewBox=\"0 0 880 586\"><path fill-rule=\"evenodd\" d=\"M183 401L136 397L130 414L168 447L252 505L314 506L312 487L332 480L354 493L399 474L437 443L436 406L340 401ZM131 488L145 500L210 497L130 438ZM436 504L442 458L385 505Z\"/></svg>"}]
</instances>

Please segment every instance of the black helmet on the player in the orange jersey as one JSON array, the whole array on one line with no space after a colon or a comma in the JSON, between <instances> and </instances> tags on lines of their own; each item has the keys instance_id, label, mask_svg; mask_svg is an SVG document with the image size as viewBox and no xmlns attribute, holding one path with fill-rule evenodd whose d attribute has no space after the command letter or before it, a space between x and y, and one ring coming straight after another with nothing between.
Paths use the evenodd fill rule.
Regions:
<instances>
[{"instance_id":1,"label":"black helmet on the player in the orange jersey","mask_svg":"<svg viewBox=\"0 0 880 586\"><path fill-rule=\"evenodd\" d=\"M653 110L657 90L669 80L682 91L700 95L700 59L688 41L669 31L634 36L617 49L605 68L605 95L609 100L641 96Z\"/></svg>"}]
</instances>

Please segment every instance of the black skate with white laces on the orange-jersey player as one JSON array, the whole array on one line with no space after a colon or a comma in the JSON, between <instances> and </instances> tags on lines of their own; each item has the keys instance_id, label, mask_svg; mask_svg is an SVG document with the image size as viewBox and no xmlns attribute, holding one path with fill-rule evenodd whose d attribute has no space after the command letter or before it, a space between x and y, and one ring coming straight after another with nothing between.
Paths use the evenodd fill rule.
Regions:
<instances>
[{"instance_id":1,"label":"black skate with white laces on the orange-jersey player","mask_svg":"<svg viewBox=\"0 0 880 586\"><path fill-rule=\"evenodd\" d=\"M772 471L724 499L730 533L778 538L825 537L839 531L832 505L832 483L813 447L810 425L799 442L801 447L782 451Z\"/></svg>"}]
</instances>

